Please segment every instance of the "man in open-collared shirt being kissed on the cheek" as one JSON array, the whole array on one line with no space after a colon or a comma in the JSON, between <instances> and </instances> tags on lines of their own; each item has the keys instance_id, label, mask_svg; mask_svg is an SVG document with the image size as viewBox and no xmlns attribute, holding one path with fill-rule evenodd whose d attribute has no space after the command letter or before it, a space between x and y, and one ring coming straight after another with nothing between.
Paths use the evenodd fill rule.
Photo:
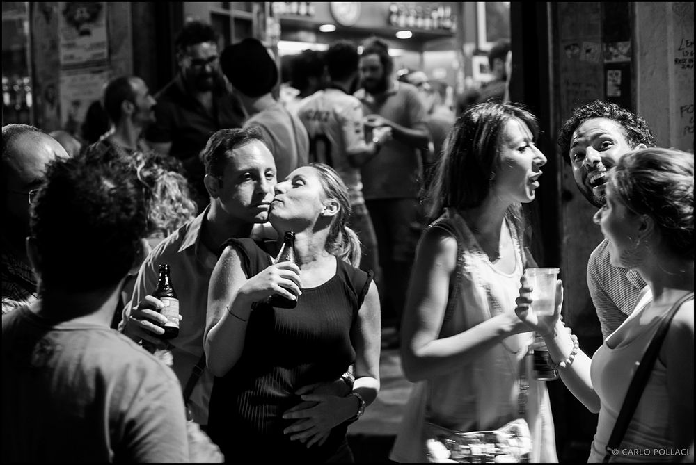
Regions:
<instances>
[{"instance_id":1,"label":"man in open-collared shirt being kissed on the cheek","mask_svg":"<svg viewBox=\"0 0 696 465\"><path fill-rule=\"evenodd\" d=\"M263 236L261 223L267 220L276 185L274 158L256 130L221 129L209 138L203 154L210 204L145 259L119 328L135 341L171 350L172 369L182 386L203 355L208 282L219 247L230 237ZM182 316L179 334L170 339L162 338L167 318L159 311L164 305L152 296L163 263L170 267ZM206 368L191 393L193 420L203 427L212 382Z\"/></svg>"}]
</instances>

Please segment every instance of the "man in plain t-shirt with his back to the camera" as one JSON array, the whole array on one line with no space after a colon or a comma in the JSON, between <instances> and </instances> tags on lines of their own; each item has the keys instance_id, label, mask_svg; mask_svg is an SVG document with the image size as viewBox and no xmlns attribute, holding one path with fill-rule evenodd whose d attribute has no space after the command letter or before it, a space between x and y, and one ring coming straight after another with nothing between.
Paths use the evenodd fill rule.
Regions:
<instances>
[{"instance_id":1,"label":"man in plain t-shirt with his back to the camera","mask_svg":"<svg viewBox=\"0 0 696 465\"><path fill-rule=\"evenodd\" d=\"M3 462L190 459L175 375L109 329L146 223L142 185L125 161L49 165L29 243L40 305L34 316L3 318Z\"/></svg>"}]
</instances>

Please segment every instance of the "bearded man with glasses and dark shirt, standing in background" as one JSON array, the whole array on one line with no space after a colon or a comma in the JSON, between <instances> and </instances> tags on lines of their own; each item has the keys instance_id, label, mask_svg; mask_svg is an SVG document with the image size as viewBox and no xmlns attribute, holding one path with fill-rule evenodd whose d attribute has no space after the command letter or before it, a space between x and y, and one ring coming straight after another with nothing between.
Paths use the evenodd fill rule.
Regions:
<instances>
[{"instance_id":1,"label":"bearded man with glasses and dark shirt, standing in background","mask_svg":"<svg viewBox=\"0 0 696 465\"><path fill-rule=\"evenodd\" d=\"M155 95L155 123L145 139L157 152L182 161L203 210L208 195L200 152L215 131L241 127L244 110L219 70L218 36L209 24L187 22L175 48L179 72Z\"/></svg>"}]
</instances>

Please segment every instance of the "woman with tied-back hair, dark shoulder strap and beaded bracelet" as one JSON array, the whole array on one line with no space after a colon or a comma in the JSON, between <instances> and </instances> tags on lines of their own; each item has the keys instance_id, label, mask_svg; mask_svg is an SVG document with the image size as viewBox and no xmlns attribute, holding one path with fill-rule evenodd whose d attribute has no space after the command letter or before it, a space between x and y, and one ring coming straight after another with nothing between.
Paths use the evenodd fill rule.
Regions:
<instances>
[{"instance_id":1,"label":"woman with tied-back hair, dark shoulder strap and beaded bracelet","mask_svg":"<svg viewBox=\"0 0 696 465\"><path fill-rule=\"evenodd\" d=\"M523 279L516 313L544 336L568 389L599 412L589 462L675 462L693 445L693 157L674 149L642 149L624 155L610 172L607 202L594 220L610 240L611 264L638 270L648 286L592 359L560 322L560 282L555 311L538 315ZM666 335L647 381L640 383L644 390L635 395L635 410L626 410L625 432L615 434L624 402L634 397L628 386L638 366L650 366L642 357L661 323Z\"/></svg>"}]
</instances>

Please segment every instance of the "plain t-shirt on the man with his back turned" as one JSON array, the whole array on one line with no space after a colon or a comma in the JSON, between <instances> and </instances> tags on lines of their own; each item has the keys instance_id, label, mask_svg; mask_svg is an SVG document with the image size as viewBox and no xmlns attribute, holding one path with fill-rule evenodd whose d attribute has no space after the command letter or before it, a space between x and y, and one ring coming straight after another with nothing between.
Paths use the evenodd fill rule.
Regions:
<instances>
[{"instance_id":1,"label":"plain t-shirt on the man with his back turned","mask_svg":"<svg viewBox=\"0 0 696 465\"><path fill-rule=\"evenodd\" d=\"M2 462L189 462L170 368L114 329L29 307L2 317L2 432Z\"/></svg>"}]
</instances>

